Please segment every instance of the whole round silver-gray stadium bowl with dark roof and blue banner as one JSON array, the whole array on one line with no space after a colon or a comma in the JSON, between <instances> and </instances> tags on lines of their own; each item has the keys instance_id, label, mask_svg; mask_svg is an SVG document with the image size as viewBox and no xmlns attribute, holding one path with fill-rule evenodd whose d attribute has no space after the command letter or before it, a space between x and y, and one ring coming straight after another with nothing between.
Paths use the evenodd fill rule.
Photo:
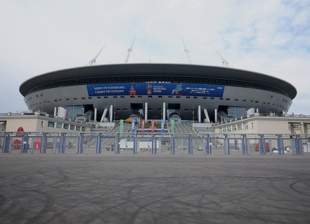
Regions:
<instances>
[{"instance_id":1,"label":"whole round silver-gray stadium bowl with dark roof and blue banner","mask_svg":"<svg viewBox=\"0 0 310 224\"><path fill-rule=\"evenodd\" d=\"M288 112L290 83L229 67L171 63L83 66L41 74L19 88L30 111L98 122L217 122L248 112Z\"/></svg>"}]
</instances>

